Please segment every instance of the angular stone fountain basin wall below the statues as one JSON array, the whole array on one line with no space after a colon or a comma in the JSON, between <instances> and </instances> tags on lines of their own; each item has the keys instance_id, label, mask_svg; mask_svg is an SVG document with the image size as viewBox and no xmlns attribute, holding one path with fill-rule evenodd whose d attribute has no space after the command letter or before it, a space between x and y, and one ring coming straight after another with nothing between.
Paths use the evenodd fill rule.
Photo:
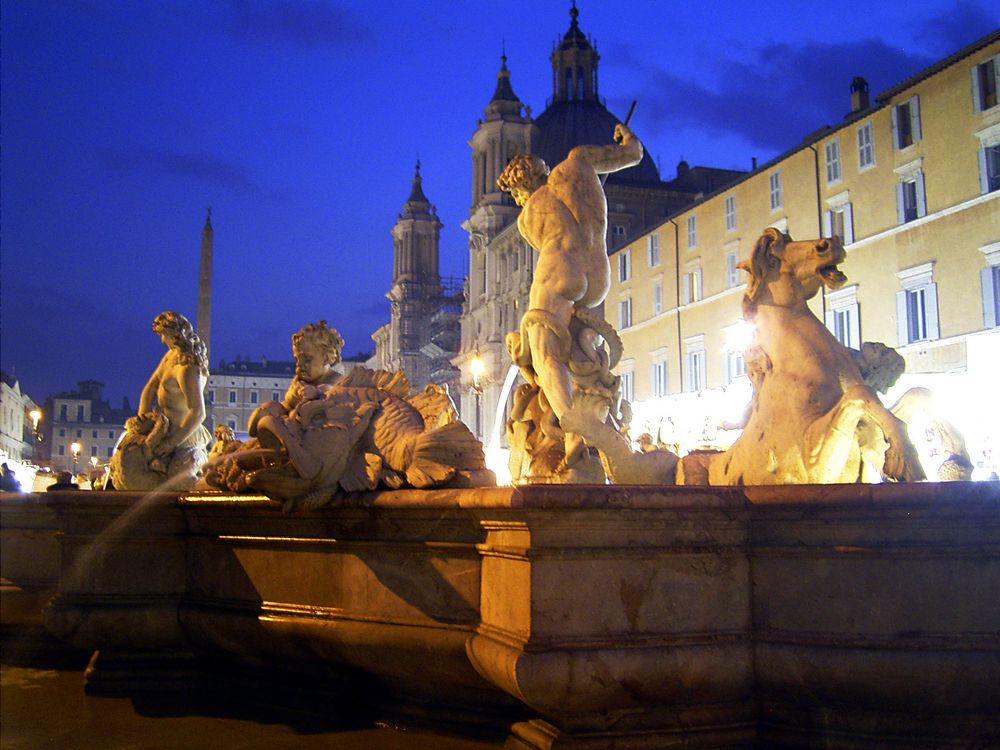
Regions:
<instances>
[{"instance_id":1,"label":"angular stone fountain basin wall below the statues","mask_svg":"<svg viewBox=\"0 0 1000 750\"><path fill-rule=\"evenodd\" d=\"M17 508L54 519L45 623L101 652L94 689L224 655L506 726L512 748L1000 736L996 483L411 490L297 515L224 495L3 507L5 546Z\"/></svg>"}]
</instances>

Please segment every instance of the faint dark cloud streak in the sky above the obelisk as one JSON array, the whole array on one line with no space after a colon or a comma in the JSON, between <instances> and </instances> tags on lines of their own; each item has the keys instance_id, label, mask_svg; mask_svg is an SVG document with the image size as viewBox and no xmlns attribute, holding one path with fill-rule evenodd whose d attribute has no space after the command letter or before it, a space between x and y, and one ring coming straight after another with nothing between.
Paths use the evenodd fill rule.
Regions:
<instances>
[{"instance_id":1,"label":"faint dark cloud streak in the sky above the obelisk","mask_svg":"<svg viewBox=\"0 0 1000 750\"><path fill-rule=\"evenodd\" d=\"M208 154L190 154L157 149L100 149L105 166L120 172L158 172L189 177L218 185L234 193L257 194L260 188L246 169Z\"/></svg>"}]
</instances>

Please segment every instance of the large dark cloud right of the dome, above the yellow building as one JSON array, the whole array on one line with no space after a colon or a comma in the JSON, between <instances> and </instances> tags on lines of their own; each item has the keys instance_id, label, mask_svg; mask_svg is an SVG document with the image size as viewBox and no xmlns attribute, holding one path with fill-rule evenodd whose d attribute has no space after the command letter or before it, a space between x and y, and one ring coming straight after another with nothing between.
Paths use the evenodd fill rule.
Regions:
<instances>
[{"instance_id":1,"label":"large dark cloud right of the dome, above the yellow building","mask_svg":"<svg viewBox=\"0 0 1000 750\"><path fill-rule=\"evenodd\" d=\"M643 118L662 128L735 135L752 146L783 151L844 116L854 76L868 79L874 95L931 61L876 39L771 43L749 60L717 59L714 86L646 67L638 98ZM634 56L629 65L644 66Z\"/></svg>"}]
</instances>

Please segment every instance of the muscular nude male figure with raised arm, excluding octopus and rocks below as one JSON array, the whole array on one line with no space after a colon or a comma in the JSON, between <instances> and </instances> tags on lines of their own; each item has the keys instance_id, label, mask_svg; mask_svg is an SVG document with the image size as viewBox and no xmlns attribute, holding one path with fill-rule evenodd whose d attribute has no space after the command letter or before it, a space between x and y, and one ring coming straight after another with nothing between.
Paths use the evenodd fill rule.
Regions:
<instances>
[{"instance_id":1,"label":"muscular nude male figure with raised arm, excluding octopus and rocks below","mask_svg":"<svg viewBox=\"0 0 1000 750\"><path fill-rule=\"evenodd\" d=\"M576 310L600 305L611 285L608 204L598 175L642 159L642 144L628 127L616 125L614 140L608 146L577 146L551 172L537 156L515 156L497 179L522 207L517 227L539 252L521 346L530 349L537 385L559 419L573 406L570 321ZM566 465L584 449L570 433L565 447Z\"/></svg>"}]
</instances>

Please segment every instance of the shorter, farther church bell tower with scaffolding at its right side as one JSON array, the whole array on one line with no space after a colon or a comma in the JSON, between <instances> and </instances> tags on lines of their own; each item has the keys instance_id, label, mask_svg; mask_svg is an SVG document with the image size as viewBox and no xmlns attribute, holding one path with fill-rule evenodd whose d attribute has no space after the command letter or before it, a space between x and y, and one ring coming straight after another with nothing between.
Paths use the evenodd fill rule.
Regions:
<instances>
[{"instance_id":1,"label":"shorter, farther church bell tower with scaffolding at its right side","mask_svg":"<svg viewBox=\"0 0 1000 750\"><path fill-rule=\"evenodd\" d=\"M392 228L393 272L389 322L372 334L372 366L403 370L414 390L428 383L454 389L458 370L451 359L458 351L462 282L438 272L441 221L424 195L420 164L410 197Z\"/></svg>"}]
</instances>

